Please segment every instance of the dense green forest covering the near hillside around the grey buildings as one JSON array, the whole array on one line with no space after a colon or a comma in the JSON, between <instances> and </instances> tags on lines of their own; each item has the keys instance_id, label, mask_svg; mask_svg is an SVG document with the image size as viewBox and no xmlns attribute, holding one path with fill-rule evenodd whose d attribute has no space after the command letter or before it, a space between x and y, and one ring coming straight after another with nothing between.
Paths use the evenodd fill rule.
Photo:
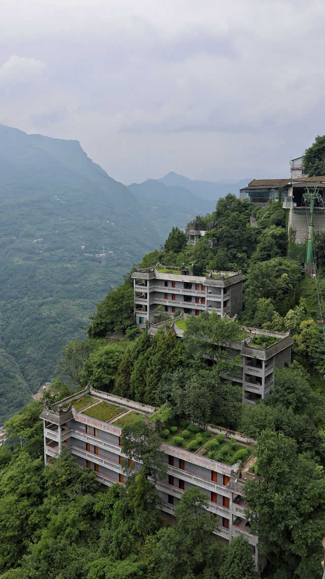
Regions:
<instances>
[{"instance_id":1,"label":"dense green forest covering the near hillside around the grey buildings","mask_svg":"<svg viewBox=\"0 0 325 579\"><path fill-rule=\"evenodd\" d=\"M124 284L98 304L88 338L65 346L44 400L54 402L90 382L158 406L167 426L169 419L187 416L256 438L255 469L261 479L247 482L245 492L258 551L268 558L263 577L320 578L325 342L317 324L323 303L316 280L304 274L305 247L288 239L286 213L278 202L260 208L228 195L197 221L202 228L207 221L216 225L194 246L173 228L164 247L146 254L139 265L193 263L197 274L206 267L241 269L244 307L238 320L190 316L184 342L163 329L154 336L139 332L132 317L131 278L125 276ZM316 236L317 284L325 295L323 241ZM225 379L236 360L228 360L224 344L241 335L241 325L290 329L294 339L292 363L275 372L268 400L248 406L242 406L238 387ZM120 342L105 339L107 332L121 329ZM209 364L203 350L211 354ZM0 455L3 579L256 577L243 538L221 548L213 537L215 522L202 510L205 496L195 489L185 492L175 508L175 525L162 524L146 470L148 461L151 473L162 468L158 434L143 430L148 455L142 456L142 469L125 488L114 485L103 492L94 474L80 471L68 455L43 467L39 412L40 403L33 402L6 423L12 444ZM125 449L131 448L130 428L123 430ZM211 447L208 456L226 460L221 450Z\"/></svg>"}]
</instances>

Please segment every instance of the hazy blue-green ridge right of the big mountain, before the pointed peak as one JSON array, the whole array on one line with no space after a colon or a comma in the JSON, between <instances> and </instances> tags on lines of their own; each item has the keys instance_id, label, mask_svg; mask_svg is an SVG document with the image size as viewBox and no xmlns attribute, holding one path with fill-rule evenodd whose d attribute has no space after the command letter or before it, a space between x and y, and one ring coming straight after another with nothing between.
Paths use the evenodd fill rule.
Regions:
<instances>
[{"instance_id":1,"label":"hazy blue-green ridge right of the big mountain, before the pointed peak","mask_svg":"<svg viewBox=\"0 0 325 579\"><path fill-rule=\"evenodd\" d=\"M173 225L184 228L195 215L205 215L215 209L215 201L206 201L182 186L167 186L156 179L141 184L132 183L128 188L134 193L145 215L150 218L164 240Z\"/></svg>"}]
</instances>

